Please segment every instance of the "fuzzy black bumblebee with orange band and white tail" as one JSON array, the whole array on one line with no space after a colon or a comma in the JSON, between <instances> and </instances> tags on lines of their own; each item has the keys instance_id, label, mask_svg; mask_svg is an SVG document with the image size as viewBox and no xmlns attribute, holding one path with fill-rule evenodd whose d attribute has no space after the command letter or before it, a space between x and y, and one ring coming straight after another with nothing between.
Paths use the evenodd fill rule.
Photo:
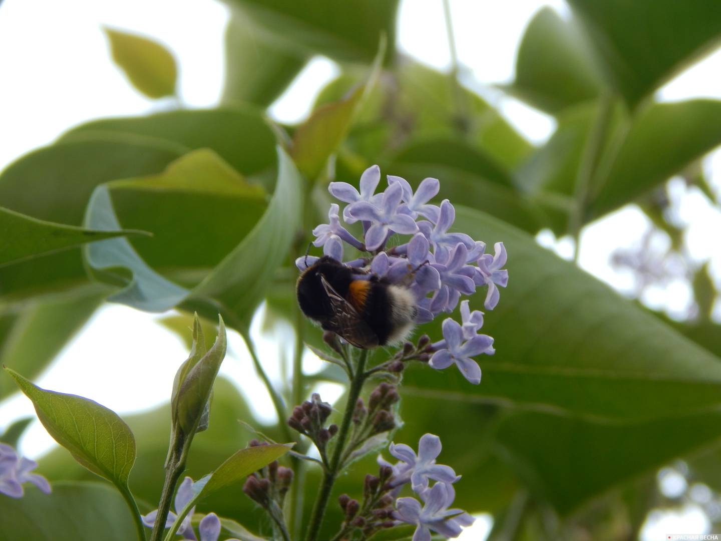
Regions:
<instances>
[{"instance_id":1,"label":"fuzzy black bumblebee with orange band and white tail","mask_svg":"<svg viewBox=\"0 0 721 541\"><path fill-rule=\"evenodd\" d=\"M402 342L415 326L410 289L327 255L301 274L296 294L307 317L357 348Z\"/></svg>"}]
</instances>

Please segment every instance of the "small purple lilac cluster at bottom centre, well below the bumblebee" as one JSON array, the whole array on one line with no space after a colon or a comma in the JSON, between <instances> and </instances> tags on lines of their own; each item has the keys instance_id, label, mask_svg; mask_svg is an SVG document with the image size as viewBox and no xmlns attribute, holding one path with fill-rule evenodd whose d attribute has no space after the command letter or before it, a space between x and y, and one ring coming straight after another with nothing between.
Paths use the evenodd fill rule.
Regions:
<instances>
[{"instance_id":1,"label":"small purple lilac cluster at bottom centre, well below the bumblebee","mask_svg":"<svg viewBox=\"0 0 721 541\"><path fill-rule=\"evenodd\" d=\"M389 452L399 459L396 465L379 457L379 464L390 466L393 477L389 483L398 493L402 485L411 484L411 488L423 501L415 498L398 498L393 518L399 522L416 526L413 541L430 541L430 531L445 537L458 537L462 527L470 526L474 518L462 509L448 509L456 498L453 483L461 478L456 472L444 465L435 463L441 454L441 439L433 434L425 434L418 442L418 454L405 444L390 444ZM434 480L430 486L430 480Z\"/></svg>"}]
</instances>

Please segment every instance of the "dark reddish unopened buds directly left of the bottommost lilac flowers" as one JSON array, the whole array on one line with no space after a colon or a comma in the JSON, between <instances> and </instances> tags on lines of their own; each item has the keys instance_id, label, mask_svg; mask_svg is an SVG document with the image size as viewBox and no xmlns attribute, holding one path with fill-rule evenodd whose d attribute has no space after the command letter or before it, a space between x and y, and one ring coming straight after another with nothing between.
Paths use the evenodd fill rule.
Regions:
<instances>
[{"instance_id":1,"label":"dark reddish unopened buds directly left of the bottommost lilac flowers","mask_svg":"<svg viewBox=\"0 0 721 541\"><path fill-rule=\"evenodd\" d=\"M392 495L393 468L381 466L379 475L368 474L363 482L363 503L342 494L338 503L345 514L340 532L335 539L352 537L354 530L360 530L363 539L381 529L392 528L397 522L393 518L394 501Z\"/></svg>"}]
</instances>

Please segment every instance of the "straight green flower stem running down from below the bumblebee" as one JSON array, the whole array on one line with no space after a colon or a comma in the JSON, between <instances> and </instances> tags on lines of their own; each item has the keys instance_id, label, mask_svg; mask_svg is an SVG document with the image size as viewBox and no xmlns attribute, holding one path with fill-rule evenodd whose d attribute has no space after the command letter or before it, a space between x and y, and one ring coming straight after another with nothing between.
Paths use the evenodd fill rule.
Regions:
<instances>
[{"instance_id":1,"label":"straight green flower stem running down from below the bumblebee","mask_svg":"<svg viewBox=\"0 0 721 541\"><path fill-rule=\"evenodd\" d=\"M340 473L340 457L343 454L343 448L345 447L345 440L348 438L348 430L350 423L353 421L353 411L355 410L355 403L358 402L358 397L361 396L361 390L363 389L363 383L366 381L366 359L368 359L368 350L364 349L361 351L361 356L358 359L358 366L355 369L355 375L350 382L350 390L348 391L348 401L345 404L345 413L343 414L343 421L338 431L338 439L335 441L335 449L333 449L333 456L330 459L330 467L323 472L323 480L320 485L320 491L313 507L313 514L311 516L311 523L308 527L308 533L306 534L306 540L316 540L318 538L318 532L320 531L321 524L323 522L323 515L325 514L325 508L328 506L328 498L333 489L333 484Z\"/></svg>"}]
</instances>

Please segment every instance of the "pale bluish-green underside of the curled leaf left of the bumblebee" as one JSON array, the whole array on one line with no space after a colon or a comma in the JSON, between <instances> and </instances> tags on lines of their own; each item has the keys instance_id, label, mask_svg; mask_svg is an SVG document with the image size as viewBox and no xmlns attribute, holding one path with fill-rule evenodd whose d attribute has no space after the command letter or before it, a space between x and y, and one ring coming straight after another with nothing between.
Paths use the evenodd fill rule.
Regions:
<instances>
[{"instance_id":1,"label":"pale bluish-green underside of the curled leaf left of the bumblebee","mask_svg":"<svg viewBox=\"0 0 721 541\"><path fill-rule=\"evenodd\" d=\"M207 152L191 154L187 160L193 157L204 161ZM185 309L197 309L201 315L215 317L219 308L223 317L231 321L234 327L240 325L242 320L249 321L255 306L262 299L265 286L273 278L275 268L286 258L301 216L302 180L282 149L278 149L278 160L278 182L265 214L252 225L252 229L247 226L246 231L242 232L242 241L206 273L193 289L178 285L151 268L126 239L109 239L89 245L86 253L90 267L96 272L102 272L106 279L115 277L124 280L125 289L110 298L151 312L162 312L182 304ZM198 171L202 170L203 167L198 168ZM236 182L236 179L226 177L223 182L228 185ZM205 183L209 190L213 187L213 182L203 181ZM123 187L123 183L115 187L118 186ZM115 201L112 188L111 183L99 187L94 193L89 203L88 226L99 229L115 229L119 226L113 208ZM222 193L227 198L228 190ZM175 246L175 249L182 250L184 241ZM172 247L164 247L165 250L168 248L172 250ZM127 278L118 274L119 268L131 270L131 281L128 282Z\"/></svg>"}]
</instances>

